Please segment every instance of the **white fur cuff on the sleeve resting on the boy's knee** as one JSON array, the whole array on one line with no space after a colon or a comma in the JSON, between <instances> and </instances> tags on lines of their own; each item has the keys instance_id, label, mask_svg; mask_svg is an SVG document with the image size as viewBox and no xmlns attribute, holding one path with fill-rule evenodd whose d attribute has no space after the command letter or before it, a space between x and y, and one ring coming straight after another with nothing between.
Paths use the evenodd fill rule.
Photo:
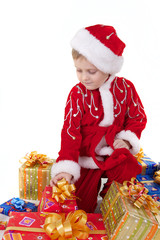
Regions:
<instances>
[{"instance_id":1,"label":"white fur cuff on the sleeve resting on the boy's knee","mask_svg":"<svg viewBox=\"0 0 160 240\"><path fill-rule=\"evenodd\" d=\"M135 133L131 132L130 130L122 130L116 135L116 138L123 139L128 141L132 148L130 149L130 152L135 155L140 151L140 141L139 138L136 136Z\"/></svg>"}]
</instances>

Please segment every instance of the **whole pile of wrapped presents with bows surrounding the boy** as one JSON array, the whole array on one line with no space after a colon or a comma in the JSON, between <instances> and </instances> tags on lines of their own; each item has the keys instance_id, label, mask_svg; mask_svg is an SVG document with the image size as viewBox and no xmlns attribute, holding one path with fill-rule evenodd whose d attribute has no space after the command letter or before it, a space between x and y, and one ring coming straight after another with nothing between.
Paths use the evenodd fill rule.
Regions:
<instances>
[{"instance_id":1,"label":"whole pile of wrapped presents with bows surrounding the boy","mask_svg":"<svg viewBox=\"0 0 160 240\"><path fill-rule=\"evenodd\" d=\"M143 154L136 155L143 171L137 179L113 182L101 201L100 213L78 209L74 184L65 179L49 186L54 160L32 152L19 169L20 198L0 205L3 240L159 240L159 164ZM32 201L30 201L32 200ZM36 205L33 200L39 200Z\"/></svg>"}]
</instances>

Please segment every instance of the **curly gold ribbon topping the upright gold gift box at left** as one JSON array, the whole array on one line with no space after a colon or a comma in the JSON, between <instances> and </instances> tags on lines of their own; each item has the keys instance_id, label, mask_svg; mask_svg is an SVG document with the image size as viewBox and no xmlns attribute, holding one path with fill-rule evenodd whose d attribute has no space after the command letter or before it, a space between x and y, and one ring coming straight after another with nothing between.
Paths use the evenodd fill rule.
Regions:
<instances>
[{"instance_id":1,"label":"curly gold ribbon topping the upright gold gift box at left","mask_svg":"<svg viewBox=\"0 0 160 240\"><path fill-rule=\"evenodd\" d=\"M47 167L48 164L53 163L53 160L47 157L45 154L38 154L37 151L33 151L30 154L26 154L23 158L27 167L33 167L36 163L39 163L42 167ZM20 163L23 161L20 160Z\"/></svg>"}]
</instances>

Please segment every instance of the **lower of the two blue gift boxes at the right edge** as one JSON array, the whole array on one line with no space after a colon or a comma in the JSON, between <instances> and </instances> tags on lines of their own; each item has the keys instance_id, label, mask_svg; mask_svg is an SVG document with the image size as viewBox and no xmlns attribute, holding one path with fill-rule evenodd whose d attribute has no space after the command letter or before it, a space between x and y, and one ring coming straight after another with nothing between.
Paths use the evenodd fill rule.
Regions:
<instances>
[{"instance_id":1,"label":"lower of the two blue gift boxes at the right edge","mask_svg":"<svg viewBox=\"0 0 160 240\"><path fill-rule=\"evenodd\" d=\"M155 179L150 175L137 175L137 180L144 184L148 189L148 194L155 200L160 200L160 185L155 182Z\"/></svg>"}]
</instances>

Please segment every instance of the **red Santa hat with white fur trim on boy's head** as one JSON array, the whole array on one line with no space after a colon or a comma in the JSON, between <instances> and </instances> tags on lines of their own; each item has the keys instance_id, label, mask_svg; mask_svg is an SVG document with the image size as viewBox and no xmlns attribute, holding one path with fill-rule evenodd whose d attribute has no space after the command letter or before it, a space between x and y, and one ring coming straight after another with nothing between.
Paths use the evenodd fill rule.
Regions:
<instances>
[{"instance_id":1,"label":"red Santa hat with white fur trim on boy's head","mask_svg":"<svg viewBox=\"0 0 160 240\"><path fill-rule=\"evenodd\" d=\"M122 67L125 44L112 26L98 24L80 29L71 47L102 72L115 74Z\"/></svg>"}]
</instances>

